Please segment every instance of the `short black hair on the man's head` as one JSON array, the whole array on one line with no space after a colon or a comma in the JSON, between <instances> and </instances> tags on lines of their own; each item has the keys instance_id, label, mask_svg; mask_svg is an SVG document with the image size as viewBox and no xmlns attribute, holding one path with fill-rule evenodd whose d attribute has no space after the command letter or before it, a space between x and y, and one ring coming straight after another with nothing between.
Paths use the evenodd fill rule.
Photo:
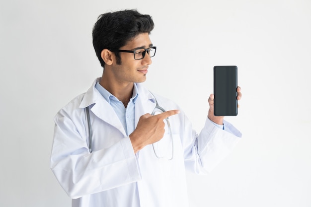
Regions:
<instances>
[{"instance_id":1,"label":"short black hair on the man's head","mask_svg":"<svg viewBox=\"0 0 311 207\"><path fill-rule=\"evenodd\" d=\"M136 9L108 12L99 15L94 24L92 36L96 56L104 68L100 53L103 49L118 50L141 33L151 33L155 24L148 14ZM115 52L117 64L121 64L119 52Z\"/></svg>"}]
</instances>

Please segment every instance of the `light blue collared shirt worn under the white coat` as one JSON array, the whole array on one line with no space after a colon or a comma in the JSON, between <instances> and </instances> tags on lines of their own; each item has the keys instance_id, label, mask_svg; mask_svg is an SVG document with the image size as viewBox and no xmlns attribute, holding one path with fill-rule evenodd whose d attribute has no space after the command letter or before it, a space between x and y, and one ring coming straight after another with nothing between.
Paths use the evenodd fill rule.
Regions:
<instances>
[{"instance_id":1,"label":"light blue collared shirt worn under the white coat","mask_svg":"<svg viewBox=\"0 0 311 207\"><path fill-rule=\"evenodd\" d=\"M96 83L95 88L112 106L113 110L116 112L124 127L126 135L129 136L135 129L135 101L138 97L136 83L134 83L133 96L130 99L126 108L123 105L122 101L120 101L117 97L107 91L103 86L99 84L99 82Z\"/></svg>"}]
</instances>

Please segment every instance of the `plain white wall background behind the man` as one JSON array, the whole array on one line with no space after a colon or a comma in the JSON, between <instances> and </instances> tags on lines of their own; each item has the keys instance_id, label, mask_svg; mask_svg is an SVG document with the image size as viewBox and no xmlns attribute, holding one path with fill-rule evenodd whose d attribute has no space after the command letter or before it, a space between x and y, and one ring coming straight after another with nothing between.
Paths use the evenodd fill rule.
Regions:
<instances>
[{"instance_id":1,"label":"plain white wall background behind the man","mask_svg":"<svg viewBox=\"0 0 311 207\"><path fill-rule=\"evenodd\" d=\"M227 120L243 139L207 176L188 174L191 207L311 207L311 0L1 0L0 207L70 207L49 168L53 117L102 69L99 14L153 16L145 85L198 131L213 66L236 65L243 97Z\"/></svg>"}]
</instances>

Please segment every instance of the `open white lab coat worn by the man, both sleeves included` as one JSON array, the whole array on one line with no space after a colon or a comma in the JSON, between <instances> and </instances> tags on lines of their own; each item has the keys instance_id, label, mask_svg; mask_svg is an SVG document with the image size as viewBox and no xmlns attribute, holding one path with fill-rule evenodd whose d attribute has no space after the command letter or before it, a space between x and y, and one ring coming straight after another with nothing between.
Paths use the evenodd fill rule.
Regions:
<instances>
[{"instance_id":1,"label":"open white lab coat worn by the man, both sleeves included","mask_svg":"<svg viewBox=\"0 0 311 207\"><path fill-rule=\"evenodd\" d=\"M156 158L152 145L135 154L114 110L95 88L96 81L99 79L61 109L54 120L51 169L73 199L73 207L188 207L185 169L206 174L233 149L240 133L227 122L225 127L233 134L207 119L198 135L181 111L169 118L174 140L172 160ZM141 84L137 86L135 126L156 106L154 96ZM165 110L179 109L163 97L156 99ZM92 153L88 151L87 106ZM170 152L166 133L158 144Z\"/></svg>"}]
</instances>

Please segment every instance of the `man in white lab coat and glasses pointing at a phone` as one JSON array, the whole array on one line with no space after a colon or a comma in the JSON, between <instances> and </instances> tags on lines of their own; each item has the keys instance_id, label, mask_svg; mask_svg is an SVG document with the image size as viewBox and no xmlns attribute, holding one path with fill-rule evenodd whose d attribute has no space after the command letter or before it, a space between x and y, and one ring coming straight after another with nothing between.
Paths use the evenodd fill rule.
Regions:
<instances>
[{"instance_id":1,"label":"man in white lab coat and glasses pointing at a phone","mask_svg":"<svg viewBox=\"0 0 311 207\"><path fill-rule=\"evenodd\" d=\"M51 169L73 207L187 207L185 170L206 174L241 137L214 116L213 94L198 135L175 103L140 84L156 54L153 28L136 10L94 25L102 77L55 117Z\"/></svg>"}]
</instances>

